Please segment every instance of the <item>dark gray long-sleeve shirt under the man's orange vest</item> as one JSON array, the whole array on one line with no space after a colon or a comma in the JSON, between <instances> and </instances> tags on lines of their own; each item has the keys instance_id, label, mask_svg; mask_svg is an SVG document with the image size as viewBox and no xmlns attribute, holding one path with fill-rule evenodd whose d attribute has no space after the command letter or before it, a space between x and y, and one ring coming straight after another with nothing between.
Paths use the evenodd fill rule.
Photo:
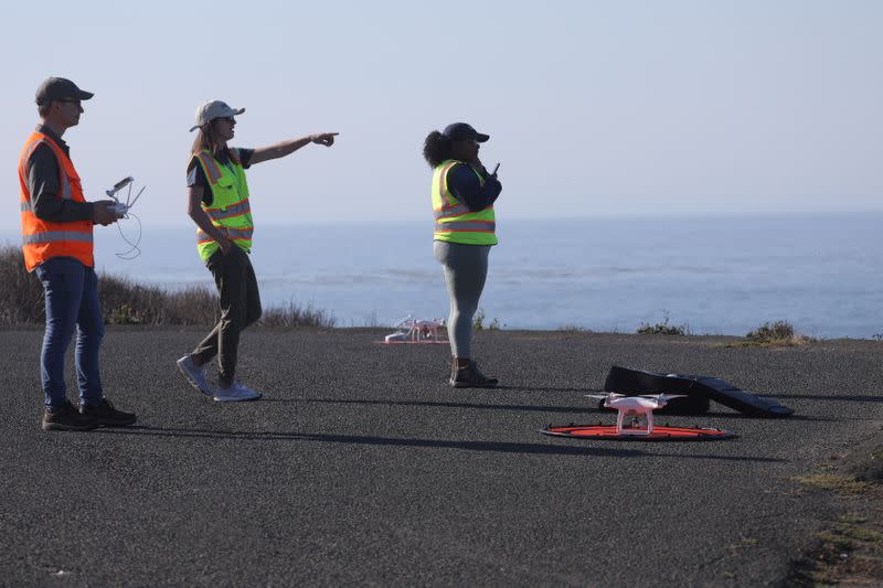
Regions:
<instances>
[{"instance_id":1,"label":"dark gray long-sleeve shirt under the man's orange vest","mask_svg":"<svg viewBox=\"0 0 883 588\"><path fill-rule=\"evenodd\" d=\"M51 141L62 148L67 157L71 149L58 135L44 125L38 125L36 131L47 136ZM58 159L47 145L39 145L31 153L25 170L28 189L31 191L31 209L41 221L68 223L71 221L92 221L94 204L92 202L74 202L61 197L58 180Z\"/></svg>"}]
</instances>

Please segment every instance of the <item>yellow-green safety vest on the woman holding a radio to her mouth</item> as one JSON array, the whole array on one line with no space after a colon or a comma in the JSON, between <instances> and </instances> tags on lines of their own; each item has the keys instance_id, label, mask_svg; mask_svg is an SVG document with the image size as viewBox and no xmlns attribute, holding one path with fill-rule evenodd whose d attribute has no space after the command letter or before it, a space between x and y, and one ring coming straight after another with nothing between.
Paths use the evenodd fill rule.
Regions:
<instances>
[{"instance_id":1,"label":"yellow-green safety vest on the woman holding a radio to her mouth","mask_svg":"<svg viewBox=\"0 0 883 588\"><path fill-rule=\"evenodd\" d=\"M448 172L461 161L448 159L436 165L433 170L433 213L435 214L435 240L461 243L464 245L497 245L497 221L493 205L482 211L472 212L457 200L448 190ZM485 185L485 179L470 167L478 175L478 181Z\"/></svg>"}]
</instances>

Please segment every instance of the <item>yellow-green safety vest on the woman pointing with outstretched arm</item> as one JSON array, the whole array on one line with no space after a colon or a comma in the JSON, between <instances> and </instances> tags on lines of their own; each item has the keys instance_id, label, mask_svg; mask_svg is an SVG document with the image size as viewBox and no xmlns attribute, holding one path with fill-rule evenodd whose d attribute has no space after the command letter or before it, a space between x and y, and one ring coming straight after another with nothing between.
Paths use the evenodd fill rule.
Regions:
<instances>
[{"instance_id":1,"label":"yellow-green safety vest on the woman pointing with outstretched arm","mask_svg":"<svg viewBox=\"0 0 883 588\"><path fill-rule=\"evenodd\" d=\"M205 178L212 188L212 205L202 203L202 210L211 218L212 224L224 231L227 237L242 250L252 250L252 233L255 225L252 221L252 209L248 205L248 183L245 169L240 161L236 149L230 149L230 165L224 165L208 150L194 153L193 157L202 165ZM200 257L206 261L219 248L217 242L201 228L196 229L196 248Z\"/></svg>"}]
</instances>

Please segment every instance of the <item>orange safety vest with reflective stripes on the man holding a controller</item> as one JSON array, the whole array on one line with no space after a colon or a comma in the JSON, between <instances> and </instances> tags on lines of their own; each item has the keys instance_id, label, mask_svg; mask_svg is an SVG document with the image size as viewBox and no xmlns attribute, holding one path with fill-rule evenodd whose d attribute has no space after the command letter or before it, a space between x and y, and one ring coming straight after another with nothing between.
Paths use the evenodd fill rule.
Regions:
<instances>
[{"instance_id":1,"label":"orange safety vest with reflective stripes on the man holding a controller","mask_svg":"<svg viewBox=\"0 0 883 588\"><path fill-rule=\"evenodd\" d=\"M58 161L57 197L74 202L86 202L79 175L58 145L42 132L34 131L24 143L19 158L19 185L21 188L21 237L24 252L24 267L28 271L52 257L73 257L84 265L94 267L92 247L92 227L89 221L71 221L53 223L38 218L31 203L31 190L28 186L28 162L40 143L45 143L55 153Z\"/></svg>"}]
</instances>

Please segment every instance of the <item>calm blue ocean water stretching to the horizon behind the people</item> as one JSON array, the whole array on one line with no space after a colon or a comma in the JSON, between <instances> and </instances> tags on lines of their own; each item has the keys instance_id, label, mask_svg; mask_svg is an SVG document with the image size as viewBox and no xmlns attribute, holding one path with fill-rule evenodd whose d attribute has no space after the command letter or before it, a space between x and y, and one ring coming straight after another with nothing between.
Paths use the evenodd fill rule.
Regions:
<instances>
[{"instance_id":1,"label":"calm blue ocean water stretching to the horizon behind the people","mask_svg":"<svg viewBox=\"0 0 883 588\"><path fill-rule=\"evenodd\" d=\"M448 312L429 223L267 226L253 264L266 306L325 309L339 327ZM883 213L498 222L481 309L507 329L634 332L668 320L744 335L787 320L823 338L883 333ZM130 229L131 226L126 226ZM143 227L123 260L96 232L99 270L181 288L212 286L189 227ZM18 235L0 234L17 243Z\"/></svg>"}]
</instances>

